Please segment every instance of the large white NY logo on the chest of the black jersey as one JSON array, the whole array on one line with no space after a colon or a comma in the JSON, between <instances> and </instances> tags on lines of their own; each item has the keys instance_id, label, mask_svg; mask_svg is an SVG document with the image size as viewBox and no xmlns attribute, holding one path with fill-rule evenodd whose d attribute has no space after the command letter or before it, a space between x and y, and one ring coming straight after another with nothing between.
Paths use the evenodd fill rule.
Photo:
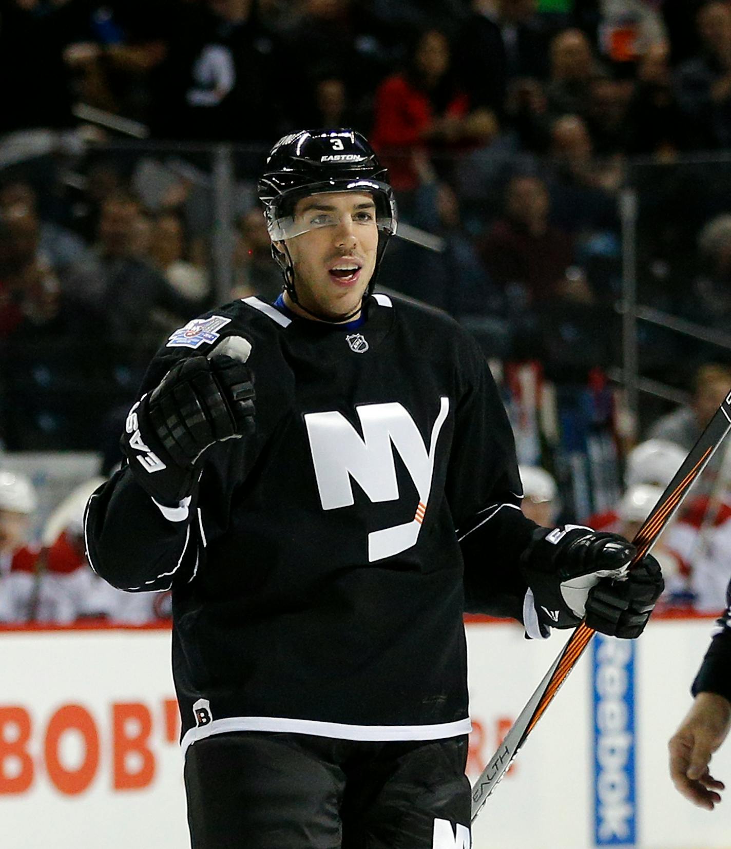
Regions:
<instances>
[{"instance_id":1,"label":"large white NY logo on the chest of the black jersey","mask_svg":"<svg viewBox=\"0 0 731 849\"><path fill-rule=\"evenodd\" d=\"M440 399L428 452L419 428L400 403L366 404L356 412L363 439L342 413L305 416L323 510L354 503L351 476L374 503L396 501L399 492L391 446L396 447L419 492L413 520L368 534L368 561L373 563L411 548L419 538L434 473L436 440L447 419L449 399Z\"/></svg>"}]
</instances>

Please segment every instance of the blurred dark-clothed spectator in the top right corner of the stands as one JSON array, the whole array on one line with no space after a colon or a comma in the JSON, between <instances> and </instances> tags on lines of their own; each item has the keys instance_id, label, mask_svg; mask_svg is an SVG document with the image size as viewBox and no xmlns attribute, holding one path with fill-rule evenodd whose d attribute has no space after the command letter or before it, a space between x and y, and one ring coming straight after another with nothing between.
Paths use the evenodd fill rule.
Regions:
<instances>
[{"instance_id":1,"label":"blurred dark-clothed spectator in the top right corner of the stands","mask_svg":"<svg viewBox=\"0 0 731 849\"><path fill-rule=\"evenodd\" d=\"M700 53L678 68L678 104L693 146L708 149L731 145L731 8L711 0L698 12Z\"/></svg>"}]
</instances>

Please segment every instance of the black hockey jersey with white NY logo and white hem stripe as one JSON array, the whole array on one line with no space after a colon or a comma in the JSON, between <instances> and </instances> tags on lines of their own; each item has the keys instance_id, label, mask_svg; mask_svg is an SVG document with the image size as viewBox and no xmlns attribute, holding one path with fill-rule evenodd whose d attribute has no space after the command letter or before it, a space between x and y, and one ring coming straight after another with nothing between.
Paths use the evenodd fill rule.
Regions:
<instances>
[{"instance_id":1,"label":"black hockey jersey with white NY logo and white hem stripe","mask_svg":"<svg viewBox=\"0 0 731 849\"><path fill-rule=\"evenodd\" d=\"M172 587L183 745L232 730L438 739L470 728L463 612L521 617L515 446L481 351L441 312L373 295L357 329L256 298L172 335L249 340L256 434L218 443L179 505L123 468L87 548L116 587Z\"/></svg>"}]
</instances>

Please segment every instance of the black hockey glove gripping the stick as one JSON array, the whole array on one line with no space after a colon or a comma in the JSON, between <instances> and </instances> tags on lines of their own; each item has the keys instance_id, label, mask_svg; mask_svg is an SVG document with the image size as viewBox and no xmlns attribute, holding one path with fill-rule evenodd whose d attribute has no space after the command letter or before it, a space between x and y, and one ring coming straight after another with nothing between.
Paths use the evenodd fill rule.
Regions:
<instances>
[{"instance_id":1,"label":"black hockey glove gripping the stick","mask_svg":"<svg viewBox=\"0 0 731 849\"><path fill-rule=\"evenodd\" d=\"M628 569L635 551L616 534L576 526L537 529L520 565L541 631L575 627L585 618L595 631L638 637L664 582L651 555Z\"/></svg>"}]
</instances>

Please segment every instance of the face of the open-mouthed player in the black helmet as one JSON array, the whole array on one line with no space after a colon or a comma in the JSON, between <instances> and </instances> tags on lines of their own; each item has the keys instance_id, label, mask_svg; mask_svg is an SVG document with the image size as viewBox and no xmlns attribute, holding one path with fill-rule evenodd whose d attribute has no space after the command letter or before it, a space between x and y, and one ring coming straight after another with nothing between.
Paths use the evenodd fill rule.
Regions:
<instances>
[{"instance_id":1,"label":"face of the open-mouthed player in the black helmet","mask_svg":"<svg viewBox=\"0 0 731 849\"><path fill-rule=\"evenodd\" d=\"M312 194L297 202L294 218L295 225L312 227L286 243L302 306L330 319L350 315L363 300L375 268L373 197L367 192Z\"/></svg>"}]
</instances>

